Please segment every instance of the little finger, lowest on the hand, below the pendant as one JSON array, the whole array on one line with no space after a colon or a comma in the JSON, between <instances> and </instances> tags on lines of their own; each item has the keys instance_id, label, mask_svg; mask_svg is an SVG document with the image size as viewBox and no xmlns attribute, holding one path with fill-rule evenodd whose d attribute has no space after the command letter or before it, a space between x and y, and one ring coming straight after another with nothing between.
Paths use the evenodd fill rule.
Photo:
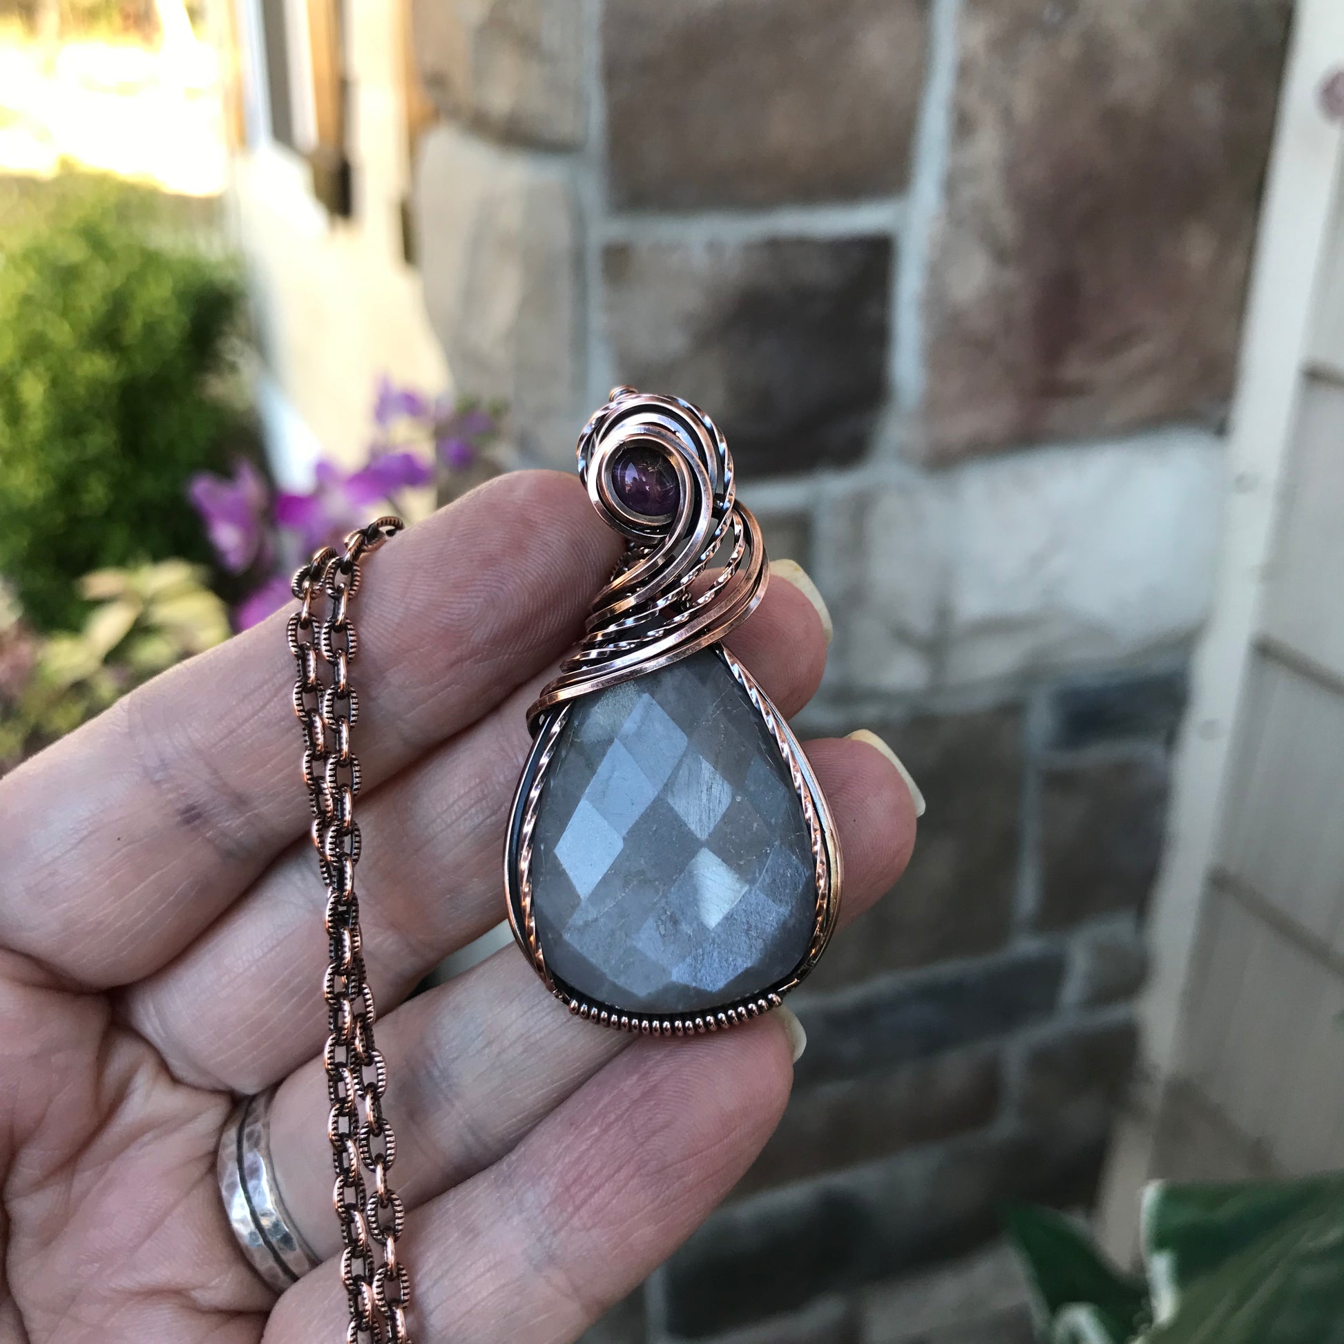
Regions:
<instances>
[{"instance_id":1,"label":"little finger, lowest on the hand, below the pendant","mask_svg":"<svg viewBox=\"0 0 1344 1344\"><path fill-rule=\"evenodd\" d=\"M664 1261L732 1188L789 1094L778 1021L640 1038L507 1159L413 1210L419 1337L562 1344ZM337 1261L276 1304L267 1344L340 1337Z\"/></svg>"}]
</instances>

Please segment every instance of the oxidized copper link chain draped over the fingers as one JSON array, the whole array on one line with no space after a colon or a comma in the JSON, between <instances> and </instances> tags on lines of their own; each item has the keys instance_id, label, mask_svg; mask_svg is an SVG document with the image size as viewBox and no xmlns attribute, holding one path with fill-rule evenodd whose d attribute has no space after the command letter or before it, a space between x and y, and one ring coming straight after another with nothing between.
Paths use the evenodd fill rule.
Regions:
<instances>
[{"instance_id":1,"label":"oxidized copper link chain draped over the fingers","mask_svg":"<svg viewBox=\"0 0 1344 1344\"><path fill-rule=\"evenodd\" d=\"M364 977L355 895L359 758L351 749L351 728L359 718L359 698L349 680L359 646L349 605L359 591L360 562L403 526L399 517L379 517L351 532L343 552L329 546L317 551L294 575L294 597L302 605L289 618L304 782L327 887L331 964L323 996L331 1034L323 1062L332 1105L327 1122L336 1171L332 1200L345 1245L340 1277L349 1298L347 1344L410 1341L410 1278L396 1254L406 1211L388 1180L396 1140L383 1117L387 1067L374 1044L374 995Z\"/></svg>"}]
</instances>

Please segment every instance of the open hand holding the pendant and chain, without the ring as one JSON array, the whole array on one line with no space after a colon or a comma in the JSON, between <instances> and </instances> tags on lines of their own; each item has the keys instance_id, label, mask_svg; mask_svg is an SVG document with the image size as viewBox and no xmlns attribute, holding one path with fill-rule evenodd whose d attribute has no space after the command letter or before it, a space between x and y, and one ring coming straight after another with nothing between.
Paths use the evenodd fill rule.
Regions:
<instances>
[{"instance_id":1,"label":"open hand holding the pendant and chain, without the ring","mask_svg":"<svg viewBox=\"0 0 1344 1344\"><path fill-rule=\"evenodd\" d=\"M632 1039L571 1017L515 948L407 999L504 914L524 710L617 546L577 481L519 473L364 567L359 887L421 1341L573 1340L732 1188L789 1094L781 1013ZM284 625L173 668L0 781L5 1339L344 1339L336 1261L277 1301L215 1179L231 1094L284 1079L284 1199L339 1250L324 894ZM773 583L730 644L785 714L814 692L825 638L797 587ZM808 754L845 921L903 868L910 794L867 743Z\"/></svg>"}]
</instances>

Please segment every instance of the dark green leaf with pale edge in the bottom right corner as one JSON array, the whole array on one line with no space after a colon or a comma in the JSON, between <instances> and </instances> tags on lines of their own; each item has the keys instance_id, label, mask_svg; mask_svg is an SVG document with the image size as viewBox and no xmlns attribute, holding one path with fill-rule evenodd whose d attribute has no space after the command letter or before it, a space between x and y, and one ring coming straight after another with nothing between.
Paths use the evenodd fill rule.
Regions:
<instances>
[{"instance_id":1,"label":"dark green leaf with pale edge in the bottom right corner","mask_svg":"<svg viewBox=\"0 0 1344 1344\"><path fill-rule=\"evenodd\" d=\"M1344 1176L1149 1191L1144 1344L1344 1344Z\"/></svg>"}]
</instances>

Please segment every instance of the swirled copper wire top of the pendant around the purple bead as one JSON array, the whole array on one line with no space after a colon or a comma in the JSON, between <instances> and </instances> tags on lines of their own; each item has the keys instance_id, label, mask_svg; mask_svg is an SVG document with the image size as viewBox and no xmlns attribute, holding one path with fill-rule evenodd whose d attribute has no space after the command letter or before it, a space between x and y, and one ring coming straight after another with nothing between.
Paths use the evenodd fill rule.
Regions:
<instances>
[{"instance_id":1,"label":"swirled copper wire top of the pendant around the purple bead","mask_svg":"<svg viewBox=\"0 0 1344 1344\"><path fill-rule=\"evenodd\" d=\"M649 517L621 501L613 472L634 446L671 464L679 487L673 513ZM699 407L613 388L579 434L578 461L589 499L626 548L593 602L578 649L528 710L534 734L556 706L722 640L755 610L769 578L761 526L737 500L732 454ZM720 567L698 582L720 552Z\"/></svg>"}]
</instances>

